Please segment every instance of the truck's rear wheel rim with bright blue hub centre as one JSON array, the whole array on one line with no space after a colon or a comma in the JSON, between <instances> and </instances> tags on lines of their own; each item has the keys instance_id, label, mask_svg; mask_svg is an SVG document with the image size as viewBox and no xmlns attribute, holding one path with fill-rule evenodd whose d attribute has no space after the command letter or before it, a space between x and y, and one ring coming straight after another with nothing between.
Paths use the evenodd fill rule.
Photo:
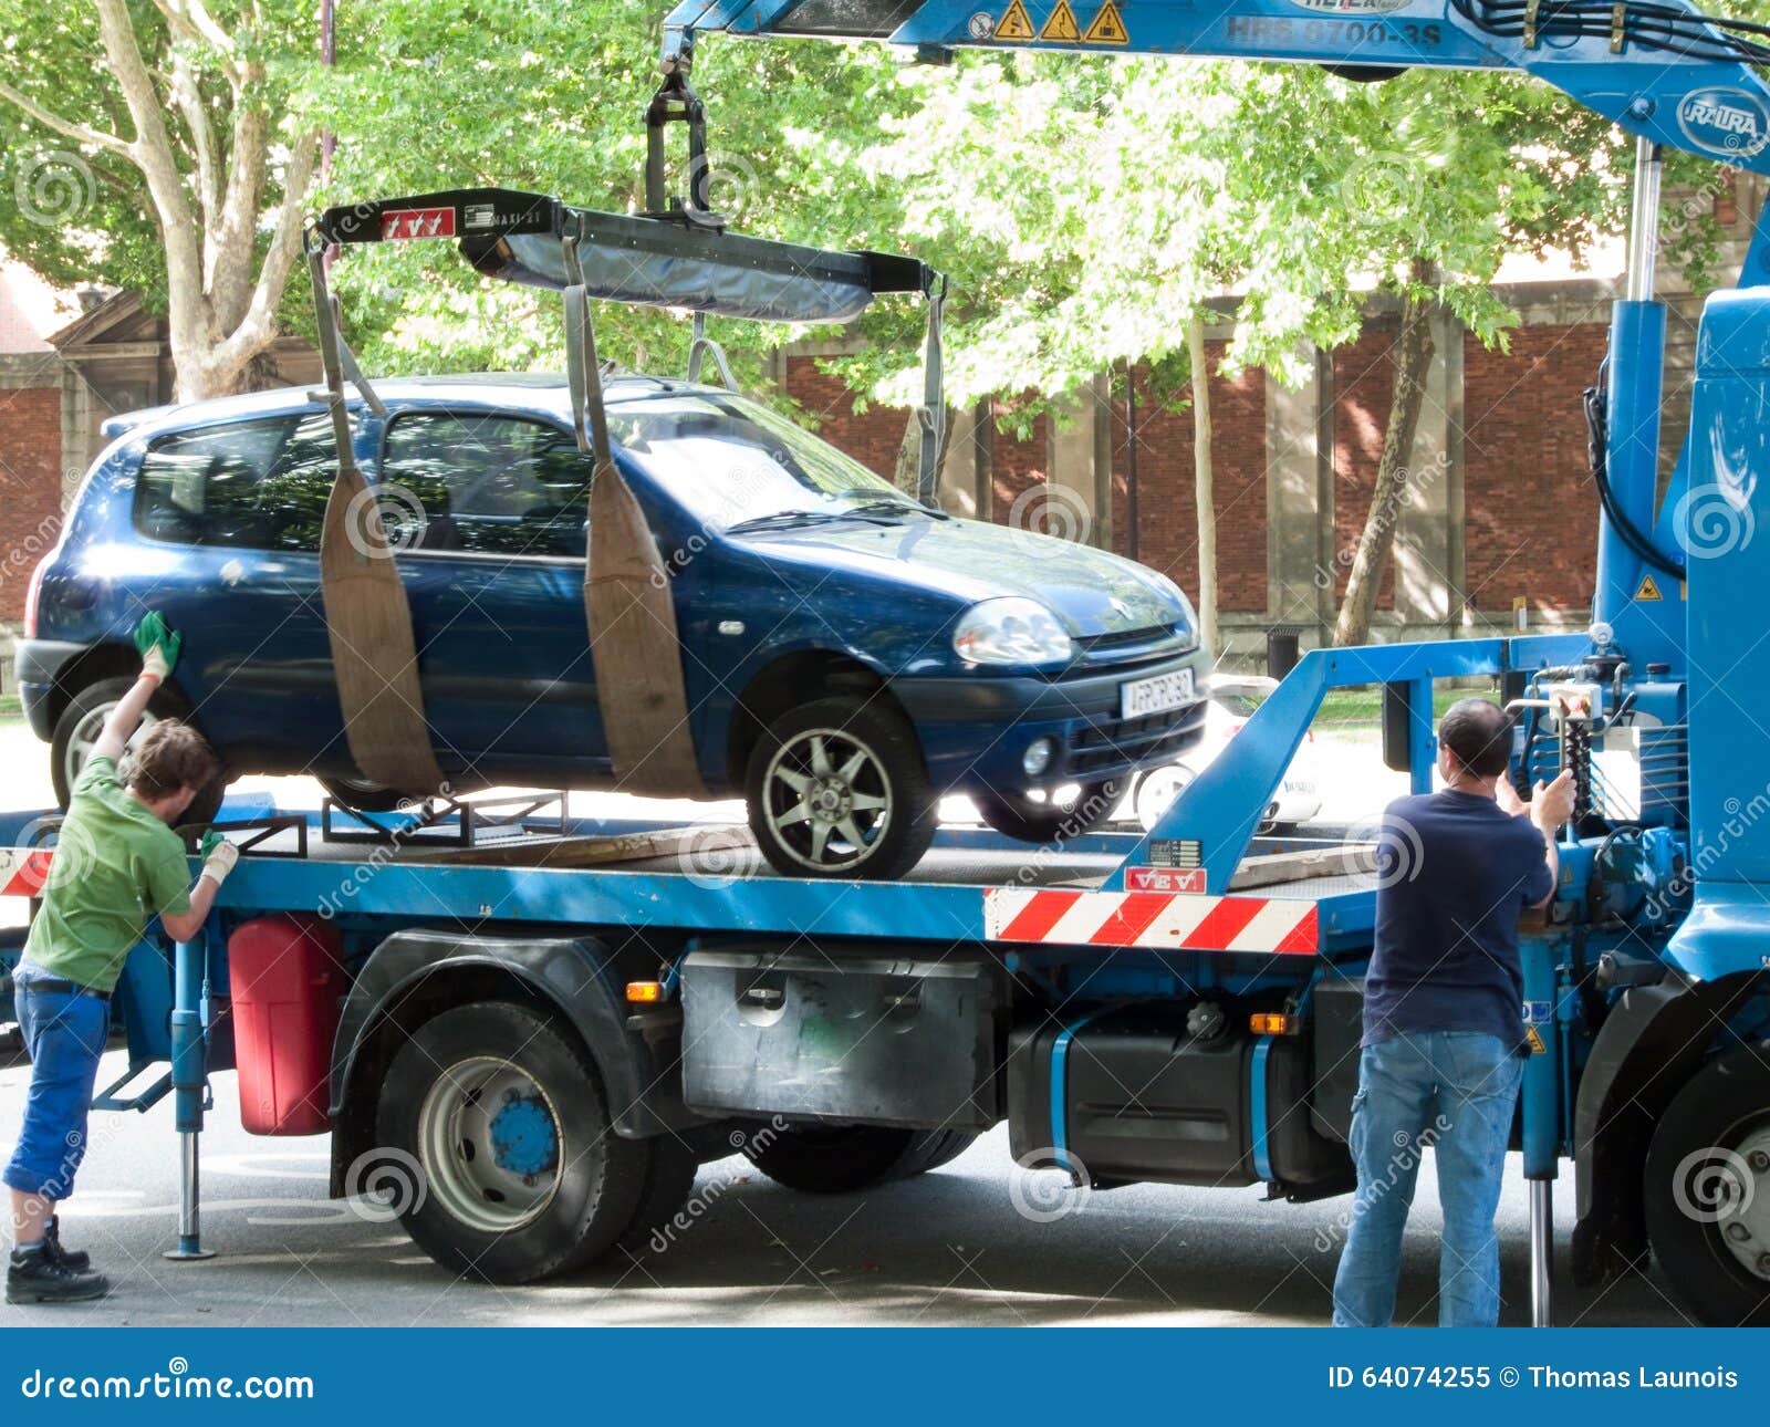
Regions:
<instances>
[{"instance_id":1,"label":"truck's rear wheel rim with bright blue hub centre","mask_svg":"<svg viewBox=\"0 0 1770 1427\"><path fill-rule=\"evenodd\" d=\"M432 1197L483 1234L540 1218L559 1192L565 1156L552 1099L494 1055L450 1066L418 1110L418 1160Z\"/></svg>"}]
</instances>

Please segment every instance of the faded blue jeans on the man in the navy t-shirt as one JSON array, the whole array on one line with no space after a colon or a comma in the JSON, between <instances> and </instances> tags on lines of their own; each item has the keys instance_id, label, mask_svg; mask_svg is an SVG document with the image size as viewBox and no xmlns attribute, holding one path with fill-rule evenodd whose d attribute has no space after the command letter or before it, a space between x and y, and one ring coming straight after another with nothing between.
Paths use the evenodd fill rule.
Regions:
<instances>
[{"instance_id":1,"label":"faded blue jeans on the man in the navy t-shirt","mask_svg":"<svg viewBox=\"0 0 1770 1427\"><path fill-rule=\"evenodd\" d=\"M1499 1321L1494 1213L1522 1076L1522 1057L1474 1030L1411 1032L1365 1046L1352 1099L1358 1197L1333 1284L1336 1328L1384 1328L1395 1317L1402 1230L1427 1144L1444 1211L1439 1324Z\"/></svg>"}]
</instances>

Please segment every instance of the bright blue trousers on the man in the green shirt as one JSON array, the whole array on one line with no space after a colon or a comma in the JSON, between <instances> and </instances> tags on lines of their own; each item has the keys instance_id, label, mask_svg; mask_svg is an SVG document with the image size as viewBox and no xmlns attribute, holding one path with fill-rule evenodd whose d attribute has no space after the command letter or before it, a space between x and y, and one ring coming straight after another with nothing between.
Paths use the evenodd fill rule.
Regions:
<instances>
[{"instance_id":1,"label":"bright blue trousers on the man in the green shirt","mask_svg":"<svg viewBox=\"0 0 1770 1427\"><path fill-rule=\"evenodd\" d=\"M87 1110L110 1007L97 997L34 991L28 979L14 1000L30 1048L30 1094L18 1149L0 1179L9 1190L62 1200L74 1192L74 1170L87 1153Z\"/></svg>"}]
</instances>

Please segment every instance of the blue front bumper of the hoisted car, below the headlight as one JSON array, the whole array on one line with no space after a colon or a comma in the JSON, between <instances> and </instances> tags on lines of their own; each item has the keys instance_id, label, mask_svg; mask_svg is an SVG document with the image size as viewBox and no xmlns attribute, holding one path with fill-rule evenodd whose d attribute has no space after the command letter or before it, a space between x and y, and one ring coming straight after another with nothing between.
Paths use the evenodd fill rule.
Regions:
<instances>
[{"instance_id":1,"label":"blue front bumper of the hoisted car, below the headlight","mask_svg":"<svg viewBox=\"0 0 1770 1427\"><path fill-rule=\"evenodd\" d=\"M1126 719L1126 683L1191 669L1200 698L1182 708ZM1177 758L1205 728L1204 650L1076 678L897 678L892 692L915 721L935 786L943 791L1057 788L1122 777ZM1050 738L1053 756L1039 775L1027 749Z\"/></svg>"}]
</instances>

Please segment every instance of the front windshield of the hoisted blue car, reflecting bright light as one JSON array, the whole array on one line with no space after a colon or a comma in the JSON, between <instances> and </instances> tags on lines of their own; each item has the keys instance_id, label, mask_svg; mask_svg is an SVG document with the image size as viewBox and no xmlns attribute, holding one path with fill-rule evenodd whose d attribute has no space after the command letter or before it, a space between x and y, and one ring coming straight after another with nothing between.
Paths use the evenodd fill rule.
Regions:
<instances>
[{"instance_id":1,"label":"front windshield of the hoisted blue car, reflecting bright light","mask_svg":"<svg viewBox=\"0 0 1770 1427\"><path fill-rule=\"evenodd\" d=\"M713 529L770 517L837 519L920 506L860 462L758 402L687 391L609 407L609 432ZM777 524L777 521L770 521Z\"/></svg>"}]
</instances>

